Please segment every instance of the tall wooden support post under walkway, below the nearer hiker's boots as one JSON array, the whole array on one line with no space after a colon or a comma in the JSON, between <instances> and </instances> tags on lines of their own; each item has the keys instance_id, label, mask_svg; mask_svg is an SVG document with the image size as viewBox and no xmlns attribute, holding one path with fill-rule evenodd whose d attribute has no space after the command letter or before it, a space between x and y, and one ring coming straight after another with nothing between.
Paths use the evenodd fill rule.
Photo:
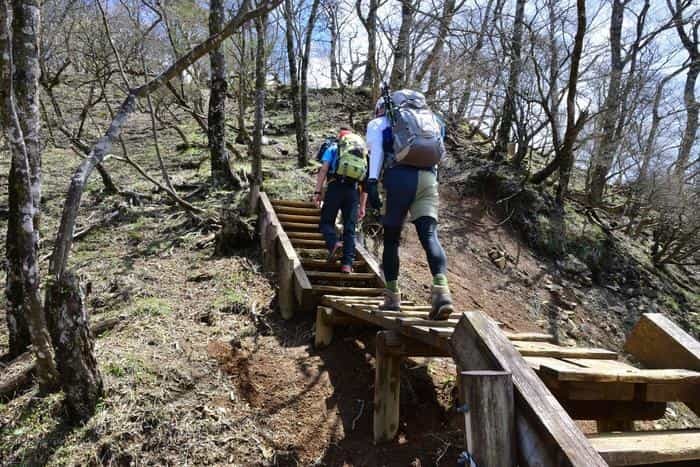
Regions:
<instances>
[{"instance_id":1,"label":"tall wooden support post under walkway, below the nearer hiker's boots","mask_svg":"<svg viewBox=\"0 0 700 467\"><path fill-rule=\"evenodd\" d=\"M391 441L399 430L401 355L392 351L385 331L377 333L374 377L374 443Z\"/></svg>"}]
</instances>

